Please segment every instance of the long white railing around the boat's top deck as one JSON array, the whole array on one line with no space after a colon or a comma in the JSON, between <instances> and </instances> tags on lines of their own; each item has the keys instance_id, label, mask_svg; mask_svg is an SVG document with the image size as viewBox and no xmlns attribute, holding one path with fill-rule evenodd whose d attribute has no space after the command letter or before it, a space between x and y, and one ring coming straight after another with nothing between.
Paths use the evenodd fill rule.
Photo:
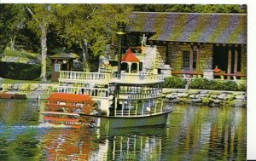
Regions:
<instances>
[{"instance_id":1,"label":"long white railing around the boat's top deck","mask_svg":"<svg viewBox=\"0 0 256 161\"><path fill-rule=\"evenodd\" d=\"M164 77L162 74L153 74L152 72L138 72L135 74L123 73L101 73L101 72L73 72L61 71L60 82L70 83L125 83L125 84L148 84L162 83Z\"/></svg>"}]
</instances>

